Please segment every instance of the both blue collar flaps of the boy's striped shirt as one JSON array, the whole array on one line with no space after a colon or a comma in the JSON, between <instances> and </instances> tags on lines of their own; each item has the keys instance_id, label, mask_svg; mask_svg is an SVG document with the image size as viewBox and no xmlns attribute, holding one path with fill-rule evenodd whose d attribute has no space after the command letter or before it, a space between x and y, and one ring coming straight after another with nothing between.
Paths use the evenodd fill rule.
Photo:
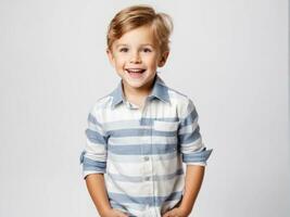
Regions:
<instances>
[{"instance_id":1,"label":"both blue collar flaps of the boy's striped shirt","mask_svg":"<svg viewBox=\"0 0 290 217\"><path fill-rule=\"evenodd\" d=\"M124 97L123 88L122 88L122 79L118 82L116 89L110 94L113 98L112 107L114 108L121 102L125 102L126 99ZM171 103L168 87L161 79L161 77L156 74L154 78L154 84L151 93L148 95L150 99L157 98L163 102Z\"/></svg>"}]
</instances>

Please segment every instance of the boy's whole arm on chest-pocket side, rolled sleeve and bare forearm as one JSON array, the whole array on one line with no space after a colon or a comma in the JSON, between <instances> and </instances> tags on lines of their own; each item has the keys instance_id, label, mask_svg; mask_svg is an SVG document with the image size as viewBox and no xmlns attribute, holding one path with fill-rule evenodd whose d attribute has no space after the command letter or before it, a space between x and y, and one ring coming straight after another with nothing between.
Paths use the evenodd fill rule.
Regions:
<instances>
[{"instance_id":1,"label":"boy's whole arm on chest-pocket side, rolled sleeve and bare forearm","mask_svg":"<svg viewBox=\"0 0 290 217\"><path fill-rule=\"evenodd\" d=\"M181 106L178 143L182 154L182 162L187 164L184 196L180 205L165 213L163 217L187 217L198 197L206 161L213 150L206 150L202 142L199 115L193 102L189 99L186 106Z\"/></svg>"}]
</instances>

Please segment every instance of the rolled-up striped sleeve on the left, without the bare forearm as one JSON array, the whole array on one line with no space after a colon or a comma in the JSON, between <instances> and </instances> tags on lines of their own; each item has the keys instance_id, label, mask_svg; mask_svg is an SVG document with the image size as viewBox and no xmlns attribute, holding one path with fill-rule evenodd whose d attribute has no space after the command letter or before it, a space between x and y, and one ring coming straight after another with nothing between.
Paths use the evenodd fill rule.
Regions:
<instances>
[{"instance_id":1,"label":"rolled-up striped sleeve on the left, without the bare forearm","mask_svg":"<svg viewBox=\"0 0 290 217\"><path fill-rule=\"evenodd\" d=\"M84 179L89 174L104 174L106 168L108 137L93 108L89 112L87 122L86 146L79 157L79 163L83 164Z\"/></svg>"}]
</instances>

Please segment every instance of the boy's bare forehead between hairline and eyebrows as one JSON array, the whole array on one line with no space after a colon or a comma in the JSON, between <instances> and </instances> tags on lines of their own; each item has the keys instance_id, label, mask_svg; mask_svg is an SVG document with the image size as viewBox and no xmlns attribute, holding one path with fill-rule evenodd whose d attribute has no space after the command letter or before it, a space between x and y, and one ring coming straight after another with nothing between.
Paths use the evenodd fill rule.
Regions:
<instances>
[{"instance_id":1,"label":"boy's bare forehead between hairline and eyebrows","mask_svg":"<svg viewBox=\"0 0 290 217\"><path fill-rule=\"evenodd\" d=\"M154 33L150 26L141 26L135 29L131 29L125 33L119 39L113 42L114 47L119 44L127 46L141 46L141 44L150 44L155 47L156 39L154 37Z\"/></svg>"}]
</instances>

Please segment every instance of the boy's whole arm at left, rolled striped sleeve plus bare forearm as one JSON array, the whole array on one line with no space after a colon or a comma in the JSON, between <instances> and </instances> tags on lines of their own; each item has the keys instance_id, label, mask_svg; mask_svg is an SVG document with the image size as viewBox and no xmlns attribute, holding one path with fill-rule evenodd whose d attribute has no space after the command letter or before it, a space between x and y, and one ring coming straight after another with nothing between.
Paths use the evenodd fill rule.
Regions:
<instances>
[{"instance_id":1,"label":"boy's whole arm at left, rolled striped sleeve plus bare forearm","mask_svg":"<svg viewBox=\"0 0 290 217\"><path fill-rule=\"evenodd\" d=\"M125 217L119 210L113 209L109 202L103 174L106 171L106 140L108 135L97 118L94 107L88 115L86 129L86 148L80 154L83 177L87 189L101 217Z\"/></svg>"}]
</instances>

